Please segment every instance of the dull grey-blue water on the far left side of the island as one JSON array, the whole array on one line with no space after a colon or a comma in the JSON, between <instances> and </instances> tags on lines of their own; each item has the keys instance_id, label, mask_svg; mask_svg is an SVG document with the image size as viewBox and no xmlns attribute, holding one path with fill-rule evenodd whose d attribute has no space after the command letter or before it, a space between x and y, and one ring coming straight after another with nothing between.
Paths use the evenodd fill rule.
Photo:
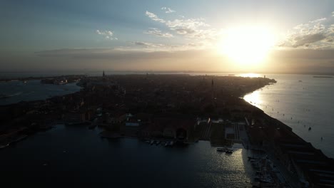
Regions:
<instances>
[{"instance_id":1,"label":"dull grey-blue water on the far left side of the island","mask_svg":"<svg viewBox=\"0 0 334 188\"><path fill-rule=\"evenodd\" d=\"M81 87L76 83L65 85L43 84L41 80L11 81L0 83L0 94L10 95L9 98L0 98L0 105L19 103L20 101L45 100L56 95L66 95L79 91Z\"/></svg>"}]
</instances>

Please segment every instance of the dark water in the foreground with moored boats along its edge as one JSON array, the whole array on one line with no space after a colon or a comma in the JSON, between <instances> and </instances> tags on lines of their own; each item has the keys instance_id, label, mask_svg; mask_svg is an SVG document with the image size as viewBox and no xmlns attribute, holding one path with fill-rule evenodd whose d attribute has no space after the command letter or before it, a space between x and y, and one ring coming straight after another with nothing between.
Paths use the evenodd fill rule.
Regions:
<instances>
[{"instance_id":1,"label":"dark water in the foreground with moored boats along its edge","mask_svg":"<svg viewBox=\"0 0 334 188\"><path fill-rule=\"evenodd\" d=\"M246 181L251 180L253 169L247 150L226 155L209 142L163 147L136 139L107 140L98 136L100 131L56 125L0 150L1 184L250 187Z\"/></svg>"}]
</instances>

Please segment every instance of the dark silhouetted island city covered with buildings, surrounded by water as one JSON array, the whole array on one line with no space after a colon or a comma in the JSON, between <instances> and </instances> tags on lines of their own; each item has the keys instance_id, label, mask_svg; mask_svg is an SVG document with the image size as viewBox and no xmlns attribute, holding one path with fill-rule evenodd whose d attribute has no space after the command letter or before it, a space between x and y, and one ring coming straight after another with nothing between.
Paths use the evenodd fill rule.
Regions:
<instances>
[{"instance_id":1,"label":"dark silhouetted island city covered with buildings, surrounded by water","mask_svg":"<svg viewBox=\"0 0 334 188\"><path fill-rule=\"evenodd\" d=\"M333 159L295 135L288 125L243 100L247 93L276 83L273 79L154 73L79 78L82 89L77 93L0 106L0 147L59 123L101 127L101 137L135 137L165 147L208 140L220 147L218 152L231 154L226 148L240 143L246 150L265 153L264 159L249 157L256 164L268 159L275 164L264 166L268 173L258 177L263 184L333 184L328 182ZM67 79L44 80L59 84Z\"/></svg>"}]
</instances>

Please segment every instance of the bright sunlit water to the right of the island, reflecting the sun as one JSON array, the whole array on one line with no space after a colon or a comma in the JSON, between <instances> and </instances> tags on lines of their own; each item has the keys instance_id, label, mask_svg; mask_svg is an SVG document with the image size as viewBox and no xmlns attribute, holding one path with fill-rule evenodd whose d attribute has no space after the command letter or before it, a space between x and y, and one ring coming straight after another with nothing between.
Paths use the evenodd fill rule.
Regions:
<instances>
[{"instance_id":1,"label":"bright sunlit water to the right of the island, reflecting the sun","mask_svg":"<svg viewBox=\"0 0 334 188\"><path fill-rule=\"evenodd\" d=\"M313 75L266 77L275 78L278 83L246 95L245 100L292 127L293 132L333 158L334 78L313 78Z\"/></svg>"}]
</instances>

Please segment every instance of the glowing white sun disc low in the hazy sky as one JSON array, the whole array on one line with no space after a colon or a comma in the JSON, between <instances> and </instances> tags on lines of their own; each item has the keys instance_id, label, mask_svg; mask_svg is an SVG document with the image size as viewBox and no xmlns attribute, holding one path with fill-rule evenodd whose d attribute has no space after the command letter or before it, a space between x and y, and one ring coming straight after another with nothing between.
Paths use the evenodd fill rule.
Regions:
<instances>
[{"instance_id":1,"label":"glowing white sun disc low in the hazy sky","mask_svg":"<svg viewBox=\"0 0 334 188\"><path fill-rule=\"evenodd\" d=\"M263 63L274 43L275 37L270 29L243 26L224 31L217 50L239 66L258 66Z\"/></svg>"}]
</instances>

